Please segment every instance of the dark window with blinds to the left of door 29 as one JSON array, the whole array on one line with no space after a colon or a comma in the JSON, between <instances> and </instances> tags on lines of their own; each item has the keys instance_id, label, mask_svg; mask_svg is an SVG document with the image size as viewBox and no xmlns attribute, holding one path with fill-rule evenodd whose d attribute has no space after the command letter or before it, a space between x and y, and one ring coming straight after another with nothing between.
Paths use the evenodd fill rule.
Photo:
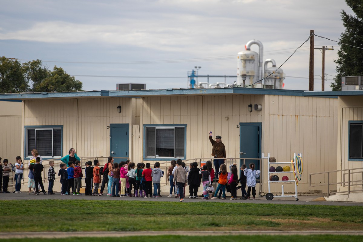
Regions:
<instances>
[{"instance_id":1,"label":"dark window with blinds to the left of door 29","mask_svg":"<svg viewBox=\"0 0 363 242\"><path fill-rule=\"evenodd\" d=\"M32 156L36 149L42 157L61 157L61 128L27 128L26 156Z\"/></svg>"}]
</instances>

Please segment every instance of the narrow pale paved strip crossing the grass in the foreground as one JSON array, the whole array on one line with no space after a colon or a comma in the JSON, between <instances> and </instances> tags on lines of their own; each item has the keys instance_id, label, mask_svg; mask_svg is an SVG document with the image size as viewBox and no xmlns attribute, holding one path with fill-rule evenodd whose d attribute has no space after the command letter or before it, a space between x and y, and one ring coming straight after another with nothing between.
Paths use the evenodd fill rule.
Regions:
<instances>
[{"instance_id":1,"label":"narrow pale paved strip crossing the grass in the foreground","mask_svg":"<svg viewBox=\"0 0 363 242\"><path fill-rule=\"evenodd\" d=\"M204 231L208 235L281 235L282 231ZM336 234L336 235L363 235L363 231L283 231L284 235L314 235L314 234ZM24 233L0 233L1 239L20 238L67 238L67 237L99 237L99 231L87 232L24 232ZM107 231L107 237L126 236L156 236L156 235L187 235L202 236L200 231L134 231L134 232L112 232ZM104 237L104 236L103 236Z\"/></svg>"}]
</instances>

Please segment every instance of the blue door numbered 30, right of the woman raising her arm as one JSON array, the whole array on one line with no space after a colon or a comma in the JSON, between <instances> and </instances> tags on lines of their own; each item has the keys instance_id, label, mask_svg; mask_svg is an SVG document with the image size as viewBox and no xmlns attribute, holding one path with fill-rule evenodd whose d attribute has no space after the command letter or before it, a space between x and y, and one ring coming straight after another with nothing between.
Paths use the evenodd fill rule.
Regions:
<instances>
[{"instance_id":1,"label":"blue door numbered 30, right of the woman raising her arm","mask_svg":"<svg viewBox=\"0 0 363 242\"><path fill-rule=\"evenodd\" d=\"M261 157L261 123L240 123L240 158ZM257 160L246 159L246 166L255 164L256 170L261 170Z\"/></svg>"}]
</instances>

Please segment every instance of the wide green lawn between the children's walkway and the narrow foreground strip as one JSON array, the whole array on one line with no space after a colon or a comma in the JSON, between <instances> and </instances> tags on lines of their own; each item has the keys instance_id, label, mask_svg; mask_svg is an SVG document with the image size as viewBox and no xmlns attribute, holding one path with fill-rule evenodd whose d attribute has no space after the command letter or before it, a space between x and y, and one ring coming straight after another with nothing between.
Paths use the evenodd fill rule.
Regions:
<instances>
[{"instance_id":1,"label":"wide green lawn between the children's walkway and the narrow foreground strip","mask_svg":"<svg viewBox=\"0 0 363 242\"><path fill-rule=\"evenodd\" d=\"M1 232L363 230L361 206L87 200L12 200L0 206L6 221Z\"/></svg>"}]
</instances>

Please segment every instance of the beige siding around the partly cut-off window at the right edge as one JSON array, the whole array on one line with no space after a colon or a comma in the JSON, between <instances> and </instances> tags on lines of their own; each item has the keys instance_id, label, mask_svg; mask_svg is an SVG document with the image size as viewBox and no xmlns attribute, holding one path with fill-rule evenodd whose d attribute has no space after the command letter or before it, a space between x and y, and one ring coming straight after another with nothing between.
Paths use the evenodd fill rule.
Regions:
<instances>
[{"instance_id":1,"label":"beige siding around the partly cut-off window at the right edge","mask_svg":"<svg viewBox=\"0 0 363 242\"><path fill-rule=\"evenodd\" d=\"M348 161L348 122L363 121L363 97L339 97L339 137L338 137L338 169L354 169L363 167L363 161ZM353 171L356 172L357 170ZM347 173L347 172L344 172ZM338 181L343 181L343 175L339 174ZM362 179L362 174L351 175L351 180ZM348 180L345 175L345 180ZM362 186L359 186L362 189ZM338 185L339 191L347 190L347 187Z\"/></svg>"}]
</instances>

